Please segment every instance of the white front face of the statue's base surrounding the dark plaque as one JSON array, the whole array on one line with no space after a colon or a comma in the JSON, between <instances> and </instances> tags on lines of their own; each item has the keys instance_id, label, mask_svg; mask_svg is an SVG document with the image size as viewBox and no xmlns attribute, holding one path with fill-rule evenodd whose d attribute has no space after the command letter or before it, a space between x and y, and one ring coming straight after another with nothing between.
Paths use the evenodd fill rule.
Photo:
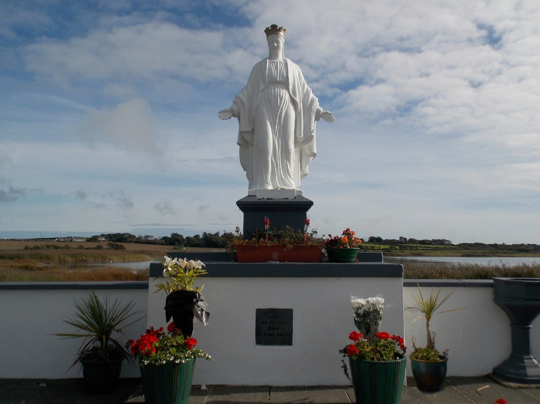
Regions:
<instances>
[{"instance_id":1,"label":"white front face of the statue's base surrounding the dark plaque","mask_svg":"<svg viewBox=\"0 0 540 404\"><path fill-rule=\"evenodd\" d=\"M401 278L207 278L205 283L210 321L206 327L195 322L193 336L214 360L197 361L197 385L346 385L338 350L355 329L351 294L381 295L383 329L403 335ZM149 326L165 326L164 306L165 295L149 293ZM255 345L257 308L293 309L292 346Z\"/></svg>"}]
</instances>

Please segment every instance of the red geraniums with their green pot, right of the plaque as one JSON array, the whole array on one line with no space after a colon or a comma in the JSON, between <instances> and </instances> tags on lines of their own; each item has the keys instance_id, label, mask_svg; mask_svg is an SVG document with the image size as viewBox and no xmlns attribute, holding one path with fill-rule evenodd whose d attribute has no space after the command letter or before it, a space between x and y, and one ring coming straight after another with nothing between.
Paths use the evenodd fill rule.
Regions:
<instances>
[{"instance_id":1,"label":"red geraniums with their green pot, right of the plaque","mask_svg":"<svg viewBox=\"0 0 540 404\"><path fill-rule=\"evenodd\" d=\"M356 396L356 404L399 404L407 357L403 338L387 332L375 334L375 338L363 338L362 333L349 334L351 344L340 349L343 372L350 374Z\"/></svg>"}]
</instances>

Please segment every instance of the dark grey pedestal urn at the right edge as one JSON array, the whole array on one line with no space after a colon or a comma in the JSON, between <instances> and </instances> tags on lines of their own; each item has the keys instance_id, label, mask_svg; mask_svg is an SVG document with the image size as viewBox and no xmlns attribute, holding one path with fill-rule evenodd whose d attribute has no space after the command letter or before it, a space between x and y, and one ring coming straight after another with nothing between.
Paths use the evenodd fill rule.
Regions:
<instances>
[{"instance_id":1,"label":"dark grey pedestal urn at the right edge","mask_svg":"<svg viewBox=\"0 0 540 404\"><path fill-rule=\"evenodd\" d=\"M503 380L540 384L540 364L532 356L529 331L540 313L540 278L493 278L494 301L510 318L512 353L493 369Z\"/></svg>"}]
</instances>

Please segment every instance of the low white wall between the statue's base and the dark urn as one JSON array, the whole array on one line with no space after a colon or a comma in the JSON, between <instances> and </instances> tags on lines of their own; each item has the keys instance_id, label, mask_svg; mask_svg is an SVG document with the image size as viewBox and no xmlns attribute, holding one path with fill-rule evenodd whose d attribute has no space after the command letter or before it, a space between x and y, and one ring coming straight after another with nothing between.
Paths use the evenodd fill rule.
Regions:
<instances>
[{"instance_id":1,"label":"low white wall between the statue's base and the dark urn","mask_svg":"<svg viewBox=\"0 0 540 404\"><path fill-rule=\"evenodd\" d=\"M470 284L465 281L462 285L458 281L438 282L441 285L454 286L422 287L424 298L426 295L429 296L432 290L436 293L440 289L441 297L453 291L452 295L441 306L440 311L463 308L458 311L436 314L430 322L431 330L436 333L436 348L448 349L448 375L490 374L494 367L500 365L510 356L511 352L510 319L493 301L493 288L474 287L471 283L475 281L469 281ZM485 285L485 282L492 285L491 281L476 281L478 285L482 285L482 283ZM413 293L418 293L416 287L403 288L405 307L414 306ZM411 344L413 336L416 339L417 347L426 345L426 321L423 319L415 320L417 317L417 313L405 311L405 342L409 347L409 352L413 350ZM532 354L536 358L540 358L540 316L532 323L530 337ZM408 371L410 372L410 363Z\"/></svg>"}]
</instances>

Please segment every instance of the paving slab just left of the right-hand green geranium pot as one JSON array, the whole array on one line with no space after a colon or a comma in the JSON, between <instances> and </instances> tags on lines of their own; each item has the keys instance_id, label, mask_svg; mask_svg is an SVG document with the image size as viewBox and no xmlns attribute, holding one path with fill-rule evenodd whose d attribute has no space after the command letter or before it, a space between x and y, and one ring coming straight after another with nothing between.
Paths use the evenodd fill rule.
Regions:
<instances>
[{"instance_id":1,"label":"paving slab just left of the right-hand green geranium pot","mask_svg":"<svg viewBox=\"0 0 540 404\"><path fill-rule=\"evenodd\" d=\"M271 387L270 404L350 404L344 386Z\"/></svg>"}]
</instances>

